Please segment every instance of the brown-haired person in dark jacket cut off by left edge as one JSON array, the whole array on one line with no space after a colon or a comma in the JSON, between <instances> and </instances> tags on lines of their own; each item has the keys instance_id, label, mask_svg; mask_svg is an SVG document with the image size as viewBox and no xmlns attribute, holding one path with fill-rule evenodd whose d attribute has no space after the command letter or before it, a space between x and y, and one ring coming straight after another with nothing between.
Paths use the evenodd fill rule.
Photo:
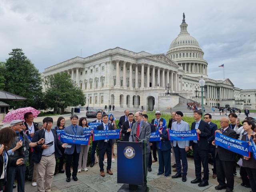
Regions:
<instances>
[{"instance_id":1,"label":"brown-haired person in dark jacket cut off by left edge","mask_svg":"<svg viewBox=\"0 0 256 192\"><path fill-rule=\"evenodd\" d=\"M16 133L12 128L6 127L0 129L0 191L4 190L9 166L22 164L22 158L11 160L7 150L14 143Z\"/></svg>"}]
</instances>

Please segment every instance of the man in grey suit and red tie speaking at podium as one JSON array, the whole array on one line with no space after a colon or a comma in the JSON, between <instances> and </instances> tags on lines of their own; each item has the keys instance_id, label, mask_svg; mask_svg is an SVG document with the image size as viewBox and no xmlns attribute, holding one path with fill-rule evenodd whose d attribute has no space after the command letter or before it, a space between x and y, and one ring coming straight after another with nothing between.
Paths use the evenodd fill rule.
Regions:
<instances>
[{"instance_id":1,"label":"man in grey suit and red tie speaking at podium","mask_svg":"<svg viewBox=\"0 0 256 192\"><path fill-rule=\"evenodd\" d=\"M146 123L142 119L142 112L138 111L135 113L136 122L132 125L132 130L129 137L129 142L146 142L146 148L143 144L143 175L144 175L144 186L147 185L147 167L150 154L149 138L150 138L150 124ZM145 161L146 158L146 161Z\"/></svg>"}]
</instances>

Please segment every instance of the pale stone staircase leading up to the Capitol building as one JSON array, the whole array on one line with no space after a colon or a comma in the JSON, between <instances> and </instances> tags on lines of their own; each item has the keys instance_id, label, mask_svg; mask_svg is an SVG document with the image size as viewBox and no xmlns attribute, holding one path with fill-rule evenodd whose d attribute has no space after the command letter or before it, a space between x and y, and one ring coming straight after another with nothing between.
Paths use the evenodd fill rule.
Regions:
<instances>
[{"instance_id":1,"label":"pale stone staircase leading up to the Capitol building","mask_svg":"<svg viewBox=\"0 0 256 192\"><path fill-rule=\"evenodd\" d=\"M196 101L180 96L179 103L172 108L172 111L181 111L183 114L193 114L193 110L189 110L187 108L187 102L196 102ZM204 105L204 109L205 109L205 113L212 113L210 106ZM170 109L164 110L164 112L170 112Z\"/></svg>"}]
</instances>

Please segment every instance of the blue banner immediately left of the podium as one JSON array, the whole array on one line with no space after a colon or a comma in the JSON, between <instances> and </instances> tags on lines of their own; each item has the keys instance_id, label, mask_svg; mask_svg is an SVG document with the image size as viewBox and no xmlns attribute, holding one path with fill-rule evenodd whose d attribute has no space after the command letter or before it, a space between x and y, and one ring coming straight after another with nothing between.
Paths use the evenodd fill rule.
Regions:
<instances>
[{"instance_id":1,"label":"blue banner immediately left of the podium","mask_svg":"<svg viewBox=\"0 0 256 192\"><path fill-rule=\"evenodd\" d=\"M113 130L94 130L92 140L105 140L105 139L120 139L121 129L113 129Z\"/></svg>"}]
</instances>

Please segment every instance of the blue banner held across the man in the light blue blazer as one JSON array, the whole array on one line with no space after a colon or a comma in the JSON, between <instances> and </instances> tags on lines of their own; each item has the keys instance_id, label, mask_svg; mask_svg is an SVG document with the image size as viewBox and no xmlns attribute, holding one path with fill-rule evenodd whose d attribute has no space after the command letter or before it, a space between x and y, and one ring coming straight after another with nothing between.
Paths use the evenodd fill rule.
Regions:
<instances>
[{"instance_id":1,"label":"blue banner held across the man in the light blue blazer","mask_svg":"<svg viewBox=\"0 0 256 192\"><path fill-rule=\"evenodd\" d=\"M196 129L192 129L189 131L174 131L168 130L169 132L169 140L170 141L192 141L199 140L198 133Z\"/></svg>"}]
</instances>

